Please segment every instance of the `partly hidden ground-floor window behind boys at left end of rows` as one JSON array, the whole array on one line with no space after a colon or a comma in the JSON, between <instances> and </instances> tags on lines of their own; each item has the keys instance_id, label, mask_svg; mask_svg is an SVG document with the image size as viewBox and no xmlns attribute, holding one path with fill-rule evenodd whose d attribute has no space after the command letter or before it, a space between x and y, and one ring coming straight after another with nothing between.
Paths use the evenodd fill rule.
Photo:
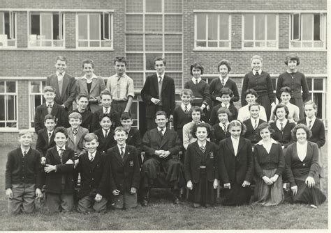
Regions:
<instances>
[{"instance_id":1,"label":"partly hidden ground-floor window behind boys at left end of rows","mask_svg":"<svg viewBox=\"0 0 331 233\"><path fill-rule=\"evenodd\" d=\"M34 128L34 113L37 106L43 104L43 88L46 81L29 81L29 122L30 127Z\"/></svg>"}]
</instances>

